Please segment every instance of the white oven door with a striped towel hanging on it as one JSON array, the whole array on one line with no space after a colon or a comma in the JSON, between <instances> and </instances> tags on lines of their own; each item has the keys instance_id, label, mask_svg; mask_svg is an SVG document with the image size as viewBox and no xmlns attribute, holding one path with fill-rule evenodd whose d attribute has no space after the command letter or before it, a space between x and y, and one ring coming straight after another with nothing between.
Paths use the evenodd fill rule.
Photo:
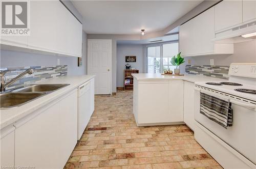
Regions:
<instances>
[{"instance_id":1,"label":"white oven door with a striped towel hanging on it","mask_svg":"<svg viewBox=\"0 0 256 169\"><path fill-rule=\"evenodd\" d=\"M206 91L209 95L211 94L207 90L195 87L195 120L256 164L256 111L252 109L255 105L233 99L231 101L230 99L233 109L233 125L225 129L200 114L200 91ZM219 98L226 97L225 95L213 93L212 95L217 97L219 95Z\"/></svg>"}]
</instances>

